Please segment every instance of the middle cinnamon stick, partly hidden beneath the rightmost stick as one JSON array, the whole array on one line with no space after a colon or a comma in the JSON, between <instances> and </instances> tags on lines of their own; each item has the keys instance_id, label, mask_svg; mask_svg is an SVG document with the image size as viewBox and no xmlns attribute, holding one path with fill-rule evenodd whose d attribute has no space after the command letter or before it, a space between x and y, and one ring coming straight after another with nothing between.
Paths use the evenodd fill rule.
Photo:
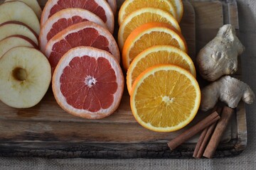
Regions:
<instances>
[{"instance_id":1,"label":"middle cinnamon stick, partly hidden beneath the rightmost stick","mask_svg":"<svg viewBox=\"0 0 256 170\"><path fill-rule=\"evenodd\" d=\"M216 111L220 115L222 108L217 107ZM213 135L213 131L215 129L216 124L217 122L213 123L212 125L205 128L203 132L201 132L201 135L198 139L195 150L193 152L194 158L201 158L203 156L204 149L206 149L206 145L208 144L211 135Z\"/></svg>"}]
</instances>

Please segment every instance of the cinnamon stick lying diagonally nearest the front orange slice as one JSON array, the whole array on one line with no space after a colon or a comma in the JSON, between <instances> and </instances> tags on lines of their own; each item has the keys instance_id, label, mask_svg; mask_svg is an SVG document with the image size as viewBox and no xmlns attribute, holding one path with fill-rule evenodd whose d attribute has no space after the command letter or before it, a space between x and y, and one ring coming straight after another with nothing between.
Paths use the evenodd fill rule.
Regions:
<instances>
[{"instance_id":1,"label":"cinnamon stick lying diagonally nearest the front orange slice","mask_svg":"<svg viewBox=\"0 0 256 170\"><path fill-rule=\"evenodd\" d=\"M174 140L171 140L170 142L168 142L169 148L171 150L174 150L176 147L178 147L178 145L181 145L183 142L186 142L186 140L193 137L198 132L208 127L209 125L215 123L219 119L220 119L220 116L216 111L211 113L206 118L201 120L199 123L189 128L185 132L181 133L181 135L178 135L178 137L174 138Z\"/></svg>"}]
</instances>

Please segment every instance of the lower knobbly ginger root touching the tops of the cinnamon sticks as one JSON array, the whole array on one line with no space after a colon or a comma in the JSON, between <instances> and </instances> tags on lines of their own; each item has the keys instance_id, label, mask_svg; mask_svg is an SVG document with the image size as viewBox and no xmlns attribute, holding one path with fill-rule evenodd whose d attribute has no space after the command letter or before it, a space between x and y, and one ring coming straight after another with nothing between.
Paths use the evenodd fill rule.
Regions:
<instances>
[{"instance_id":1,"label":"lower knobbly ginger root touching the tops of the cinnamon sticks","mask_svg":"<svg viewBox=\"0 0 256 170\"><path fill-rule=\"evenodd\" d=\"M208 111L218 100L226 103L230 108L236 108L241 98L251 104L255 98L252 89L244 82L230 76L214 81L201 91L201 110Z\"/></svg>"}]
</instances>

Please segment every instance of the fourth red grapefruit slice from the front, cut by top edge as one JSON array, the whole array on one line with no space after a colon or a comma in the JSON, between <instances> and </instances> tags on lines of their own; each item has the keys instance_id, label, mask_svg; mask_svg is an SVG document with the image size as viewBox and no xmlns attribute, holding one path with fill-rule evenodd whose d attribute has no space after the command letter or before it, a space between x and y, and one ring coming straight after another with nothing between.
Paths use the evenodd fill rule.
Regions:
<instances>
[{"instance_id":1,"label":"fourth red grapefruit slice from the front, cut by top edge","mask_svg":"<svg viewBox=\"0 0 256 170\"><path fill-rule=\"evenodd\" d=\"M87 9L88 11L95 13L95 15L99 16L102 21L106 23L110 33L114 32L114 14L107 1L102 0L49 0L43 8L41 27L46 23L46 20L50 18L50 16L53 16L54 13L65 8Z\"/></svg>"}]
</instances>

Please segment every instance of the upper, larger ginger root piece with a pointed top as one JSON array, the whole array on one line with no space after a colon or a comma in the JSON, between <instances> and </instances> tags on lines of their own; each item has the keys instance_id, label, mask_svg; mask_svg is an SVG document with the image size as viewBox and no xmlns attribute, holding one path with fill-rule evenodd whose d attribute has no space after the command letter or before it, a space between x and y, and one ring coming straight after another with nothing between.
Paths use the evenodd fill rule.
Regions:
<instances>
[{"instance_id":1,"label":"upper, larger ginger root piece with a pointed top","mask_svg":"<svg viewBox=\"0 0 256 170\"><path fill-rule=\"evenodd\" d=\"M238 69L238 55L241 55L244 49L230 24L221 27L216 37L208 42L196 57L203 79L215 81L223 75L235 73Z\"/></svg>"}]
</instances>

